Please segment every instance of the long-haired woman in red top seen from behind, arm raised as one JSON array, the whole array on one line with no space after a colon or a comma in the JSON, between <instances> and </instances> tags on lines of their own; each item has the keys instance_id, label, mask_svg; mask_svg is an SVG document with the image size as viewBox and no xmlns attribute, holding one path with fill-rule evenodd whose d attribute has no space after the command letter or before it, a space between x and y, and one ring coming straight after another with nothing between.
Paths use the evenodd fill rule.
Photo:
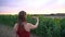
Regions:
<instances>
[{"instance_id":1,"label":"long-haired woman in red top seen from behind, arm raised","mask_svg":"<svg viewBox=\"0 0 65 37\"><path fill-rule=\"evenodd\" d=\"M30 29L37 28L39 24L39 18L38 17L34 18L37 20L37 23L35 25L32 25L31 23L27 23L25 11L21 11L18 13L18 21L14 25L16 37L30 37Z\"/></svg>"}]
</instances>

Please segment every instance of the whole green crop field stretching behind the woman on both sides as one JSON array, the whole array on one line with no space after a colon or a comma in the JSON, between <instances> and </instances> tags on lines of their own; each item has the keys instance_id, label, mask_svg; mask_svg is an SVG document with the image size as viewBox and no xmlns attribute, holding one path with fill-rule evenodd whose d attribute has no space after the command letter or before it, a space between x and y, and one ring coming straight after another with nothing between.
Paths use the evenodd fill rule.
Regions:
<instances>
[{"instance_id":1,"label":"whole green crop field stretching behind the woman on both sides","mask_svg":"<svg viewBox=\"0 0 65 37\"><path fill-rule=\"evenodd\" d=\"M39 16L39 26L38 28L31 30L32 34L36 34L41 37L65 37L65 17L64 18L51 18L44 17L43 15ZM27 15L27 21L35 24L36 20L31 15ZM0 24L13 27L17 22L17 15L0 15Z\"/></svg>"}]
</instances>

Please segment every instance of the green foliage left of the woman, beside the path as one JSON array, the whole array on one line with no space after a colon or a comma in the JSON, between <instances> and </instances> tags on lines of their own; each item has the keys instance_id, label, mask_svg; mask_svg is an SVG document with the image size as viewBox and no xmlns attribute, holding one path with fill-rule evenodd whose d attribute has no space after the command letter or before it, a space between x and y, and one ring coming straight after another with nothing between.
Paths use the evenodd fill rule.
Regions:
<instances>
[{"instance_id":1,"label":"green foliage left of the woman, beside the path","mask_svg":"<svg viewBox=\"0 0 65 37\"><path fill-rule=\"evenodd\" d=\"M13 27L16 22L17 22L17 16L15 15L0 15L0 24L4 24Z\"/></svg>"}]
</instances>

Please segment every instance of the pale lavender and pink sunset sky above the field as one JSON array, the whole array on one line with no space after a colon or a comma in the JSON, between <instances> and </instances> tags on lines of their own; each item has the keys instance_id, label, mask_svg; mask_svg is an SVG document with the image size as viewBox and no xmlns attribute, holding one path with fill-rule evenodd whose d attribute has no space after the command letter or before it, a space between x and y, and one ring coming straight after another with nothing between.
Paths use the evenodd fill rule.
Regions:
<instances>
[{"instance_id":1,"label":"pale lavender and pink sunset sky above the field","mask_svg":"<svg viewBox=\"0 0 65 37\"><path fill-rule=\"evenodd\" d=\"M65 13L65 0L0 0L0 14L17 14L20 11L27 14Z\"/></svg>"}]
</instances>

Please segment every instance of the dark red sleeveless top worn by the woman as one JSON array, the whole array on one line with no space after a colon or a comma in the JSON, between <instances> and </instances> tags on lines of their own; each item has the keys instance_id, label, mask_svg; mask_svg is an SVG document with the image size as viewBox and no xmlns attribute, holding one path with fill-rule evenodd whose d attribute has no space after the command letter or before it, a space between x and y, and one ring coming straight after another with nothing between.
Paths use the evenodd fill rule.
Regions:
<instances>
[{"instance_id":1,"label":"dark red sleeveless top worn by the woman","mask_svg":"<svg viewBox=\"0 0 65 37\"><path fill-rule=\"evenodd\" d=\"M30 37L30 32L26 32L24 27L20 27L17 28L16 34L18 35L18 37Z\"/></svg>"}]
</instances>

